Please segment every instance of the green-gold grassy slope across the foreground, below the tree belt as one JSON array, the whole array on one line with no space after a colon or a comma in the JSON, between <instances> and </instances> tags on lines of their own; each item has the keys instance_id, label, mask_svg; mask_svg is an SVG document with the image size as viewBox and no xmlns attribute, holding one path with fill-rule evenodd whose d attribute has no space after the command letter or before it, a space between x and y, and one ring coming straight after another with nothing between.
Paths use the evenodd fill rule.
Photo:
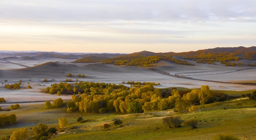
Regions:
<instances>
[{"instance_id":1,"label":"green-gold grassy slope across the foreground, below the tree belt","mask_svg":"<svg viewBox=\"0 0 256 140\"><path fill-rule=\"evenodd\" d=\"M238 106L237 103L242 105ZM224 110L223 108L227 108ZM145 112L140 114L88 114L82 112L67 113L66 108L44 109L43 104L21 106L13 111L0 113L15 113L17 123L13 126L1 127L0 136L9 136L14 130L27 128L32 137L31 128L44 123L49 127L58 128L58 119L66 117L69 125L66 132L53 137L54 140L210 140L216 134L228 133L240 139L256 139L255 116L256 101L241 98L230 102L218 102L204 105L195 113L176 113L173 110ZM24 113L26 112L26 113ZM182 125L178 128L164 126L163 117L178 115L183 120L195 119L199 122L198 128ZM84 123L78 123L82 116ZM114 119L121 119L123 126L114 125ZM104 124L109 124L109 129L104 129Z\"/></svg>"}]
</instances>

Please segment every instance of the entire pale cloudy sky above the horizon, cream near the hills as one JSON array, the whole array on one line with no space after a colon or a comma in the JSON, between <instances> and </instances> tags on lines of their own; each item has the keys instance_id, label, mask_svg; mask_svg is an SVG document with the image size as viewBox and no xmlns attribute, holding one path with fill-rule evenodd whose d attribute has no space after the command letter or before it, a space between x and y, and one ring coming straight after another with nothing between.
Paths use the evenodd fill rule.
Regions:
<instances>
[{"instance_id":1,"label":"entire pale cloudy sky above the horizon, cream near the hills","mask_svg":"<svg viewBox=\"0 0 256 140\"><path fill-rule=\"evenodd\" d=\"M0 50L133 53L256 46L256 0L0 0Z\"/></svg>"}]
</instances>

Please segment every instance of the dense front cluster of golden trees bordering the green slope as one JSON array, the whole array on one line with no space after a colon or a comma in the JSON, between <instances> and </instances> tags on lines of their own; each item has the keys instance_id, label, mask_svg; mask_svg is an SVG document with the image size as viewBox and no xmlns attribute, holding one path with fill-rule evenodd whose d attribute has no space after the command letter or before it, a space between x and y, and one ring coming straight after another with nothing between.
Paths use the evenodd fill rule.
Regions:
<instances>
[{"instance_id":1,"label":"dense front cluster of golden trees bordering the green slope","mask_svg":"<svg viewBox=\"0 0 256 140\"><path fill-rule=\"evenodd\" d=\"M67 112L79 110L81 112L123 112L140 113L152 110L165 110L175 108L176 111L197 110L195 105L204 105L213 97L208 85L202 85L201 89L195 89L183 95L173 89L169 96L162 95L160 89L155 89L153 85L146 84L140 88L109 89L110 92L95 94L90 91L75 94L72 101L66 102Z\"/></svg>"}]
</instances>

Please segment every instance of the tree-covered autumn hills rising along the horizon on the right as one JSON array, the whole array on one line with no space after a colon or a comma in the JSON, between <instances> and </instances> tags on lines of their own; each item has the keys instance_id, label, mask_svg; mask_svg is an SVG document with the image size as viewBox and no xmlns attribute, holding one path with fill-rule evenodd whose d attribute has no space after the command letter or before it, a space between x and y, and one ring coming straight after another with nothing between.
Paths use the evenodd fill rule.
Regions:
<instances>
[{"instance_id":1,"label":"tree-covered autumn hills rising along the horizon on the right","mask_svg":"<svg viewBox=\"0 0 256 140\"><path fill-rule=\"evenodd\" d=\"M75 63L99 63L152 67L157 65L157 63L161 60L182 65L194 65L194 63L188 63L186 61L193 60L196 63L221 63L225 64L225 66L256 66L256 63L235 63L236 61L242 59L256 60L256 47L215 48L182 53L153 53L149 51L142 51L116 57L86 56L84 58L77 59Z\"/></svg>"}]
</instances>

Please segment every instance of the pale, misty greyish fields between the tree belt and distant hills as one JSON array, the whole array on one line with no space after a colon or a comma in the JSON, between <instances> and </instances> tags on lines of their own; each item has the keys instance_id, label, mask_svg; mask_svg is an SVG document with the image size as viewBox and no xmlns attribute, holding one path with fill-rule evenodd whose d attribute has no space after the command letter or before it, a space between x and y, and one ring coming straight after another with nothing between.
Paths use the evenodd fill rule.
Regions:
<instances>
[{"instance_id":1,"label":"pale, misty greyish fields between the tree belt and distant hills","mask_svg":"<svg viewBox=\"0 0 256 140\"><path fill-rule=\"evenodd\" d=\"M195 66L185 66L166 61L158 63L158 66L156 67L156 69L163 72L201 79L194 80L171 77L170 75L163 75L142 67L115 66L112 64L99 65L98 63L71 63L72 61L74 60L56 58L45 58L40 60L23 60L15 58L8 60L8 62L0 60L0 97L5 98L7 100L6 103L9 103L0 104L0 106L7 107L10 103L25 101L45 101L54 100L56 98L62 98L64 100L71 99L70 96L56 96L41 93L40 91L53 83L65 82L65 79L72 79L73 83L75 83L76 78L78 78L78 81L115 84L122 84L123 81L160 83L161 85L155 86L156 88L200 88L202 85L207 84L210 89L217 90L244 91L256 89L255 85L201 81L255 82L255 67L225 67L220 64L211 65L199 63L195 63ZM43 64L47 62L55 63ZM30 66L30 68L25 68L24 66ZM68 73L71 73L73 77L67 77ZM78 74L85 74L86 77L78 77ZM18 83L20 79L22 80L22 87L24 87L24 89L7 90L4 88L4 84ZM43 82L44 79L47 79L48 82ZM5 80L8 80L8 82L5 82ZM32 89L25 89L27 85L31 85Z\"/></svg>"}]
</instances>

